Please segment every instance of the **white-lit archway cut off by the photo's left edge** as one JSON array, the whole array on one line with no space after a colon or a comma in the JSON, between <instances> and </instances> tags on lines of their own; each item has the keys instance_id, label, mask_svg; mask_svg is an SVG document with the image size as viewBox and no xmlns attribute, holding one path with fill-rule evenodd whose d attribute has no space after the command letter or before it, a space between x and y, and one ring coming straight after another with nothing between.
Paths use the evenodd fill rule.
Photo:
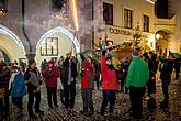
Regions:
<instances>
[{"instance_id":1,"label":"white-lit archway cut off by the photo's left edge","mask_svg":"<svg viewBox=\"0 0 181 121\"><path fill-rule=\"evenodd\" d=\"M0 25L0 50L7 56L7 63L26 58L25 50L20 38L3 25Z\"/></svg>"}]
</instances>

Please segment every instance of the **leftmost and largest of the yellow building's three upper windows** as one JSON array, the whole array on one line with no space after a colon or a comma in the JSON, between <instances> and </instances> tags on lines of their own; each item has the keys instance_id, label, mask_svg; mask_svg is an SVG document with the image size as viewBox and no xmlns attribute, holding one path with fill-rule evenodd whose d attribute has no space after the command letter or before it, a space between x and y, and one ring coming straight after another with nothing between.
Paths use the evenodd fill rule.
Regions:
<instances>
[{"instance_id":1,"label":"leftmost and largest of the yellow building's three upper windows","mask_svg":"<svg viewBox=\"0 0 181 121\"><path fill-rule=\"evenodd\" d=\"M105 24L113 25L113 4L103 2L103 19Z\"/></svg>"}]
</instances>

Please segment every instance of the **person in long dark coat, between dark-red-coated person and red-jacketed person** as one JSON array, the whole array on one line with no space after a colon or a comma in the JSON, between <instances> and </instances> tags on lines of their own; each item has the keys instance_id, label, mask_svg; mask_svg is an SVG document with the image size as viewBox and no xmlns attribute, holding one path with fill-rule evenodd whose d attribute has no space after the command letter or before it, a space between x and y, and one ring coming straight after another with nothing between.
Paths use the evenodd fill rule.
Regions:
<instances>
[{"instance_id":1,"label":"person in long dark coat, between dark-red-coated person and red-jacketed person","mask_svg":"<svg viewBox=\"0 0 181 121\"><path fill-rule=\"evenodd\" d=\"M63 63L64 76L64 96L65 96L65 109L75 107L76 96L76 77L77 73L77 61L71 59L71 53L66 54L66 59Z\"/></svg>"}]
</instances>

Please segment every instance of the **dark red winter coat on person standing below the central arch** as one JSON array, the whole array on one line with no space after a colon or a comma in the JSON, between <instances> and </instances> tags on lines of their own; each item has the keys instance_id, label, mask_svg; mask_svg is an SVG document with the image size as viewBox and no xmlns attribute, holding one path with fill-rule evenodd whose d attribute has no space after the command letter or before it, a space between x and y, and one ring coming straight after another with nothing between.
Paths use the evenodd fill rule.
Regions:
<instances>
[{"instance_id":1,"label":"dark red winter coat on person standing below the central arch","mask_svg":"<svg viewBox=\"0 0 181 121\"><path fill-rule=\"evenodd\" d=\"M45 82L47 87L53 87L56 88L57 87L57 78L60 77L60 72L57 67L55 67L53 62L49 62L53 64L53 67L46 67L43 70L43 77L45 78ZM52 70L49 70L52 69Z\"/></svg>"}]
</instances>

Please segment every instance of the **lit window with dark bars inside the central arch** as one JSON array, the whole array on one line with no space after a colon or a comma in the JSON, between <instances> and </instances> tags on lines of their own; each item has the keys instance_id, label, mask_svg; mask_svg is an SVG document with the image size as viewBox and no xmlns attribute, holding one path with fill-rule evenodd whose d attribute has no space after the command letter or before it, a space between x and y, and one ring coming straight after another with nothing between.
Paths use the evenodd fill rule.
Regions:
<instances>
[{"instance_id":1,"label":"lit window with dark bars inside the central arch","mask_svg":"<svg viewBox=\"0 0 181 121\"><path fill-rule=\"evenodd\" d=\"M57 56L58 55L58 37L47 37L41 46L42 56Z\"/></svg>"}]
</instances>

